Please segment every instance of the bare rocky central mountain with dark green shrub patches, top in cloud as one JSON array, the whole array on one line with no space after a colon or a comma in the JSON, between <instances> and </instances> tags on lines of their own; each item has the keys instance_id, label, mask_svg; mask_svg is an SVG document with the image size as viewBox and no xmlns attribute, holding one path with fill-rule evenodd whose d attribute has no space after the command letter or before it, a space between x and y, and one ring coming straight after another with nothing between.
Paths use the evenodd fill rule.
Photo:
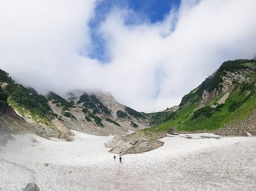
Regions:
<instances>
[{"instance_id":1,"label":"bare rocky central mountain with dark green shrub patches, top in cloud","mask_svg":"<svg viewBox=\"0 0 256 191\"><path fill-rule=\"evenodd\" d=\"M54 93L48 95L51 109L68 129L108 136L149 126L147 117L118 103L109 93L75 91L68 93L66 99Z\"/></svg>"}]
</instances>

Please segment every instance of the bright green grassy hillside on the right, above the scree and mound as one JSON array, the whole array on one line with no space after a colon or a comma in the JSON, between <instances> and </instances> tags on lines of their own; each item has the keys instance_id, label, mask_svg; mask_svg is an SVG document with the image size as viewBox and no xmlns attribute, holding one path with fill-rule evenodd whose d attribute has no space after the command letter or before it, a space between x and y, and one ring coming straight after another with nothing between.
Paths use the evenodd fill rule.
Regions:
<instances>
[{"instance_id":1,"label":"bright green grassy hillside on the right, above the scree and mound","mask_svg":"<svg viewBox=\"0 0 256 191\"><path fill-rule=\"evenodd\" d=\"M244 81L232 79L235 75L244 76ZM218 104L225 94L222 92L223 76L233 80L230 94L226 101ZM234 77L235 78L235 77ZM240 77L242 78L242 77ZM147 128L144 131L195 131L200 129L218 129L232 121L238 124L240 120L249 117L256 109L256 76L255 60L234 60L224 62L221 67L205 81L182 98L179 109L170 114L169 120L158 127ZM213 98L203 102L202 93L209 92Z\"/></svg>"}]
</instances>

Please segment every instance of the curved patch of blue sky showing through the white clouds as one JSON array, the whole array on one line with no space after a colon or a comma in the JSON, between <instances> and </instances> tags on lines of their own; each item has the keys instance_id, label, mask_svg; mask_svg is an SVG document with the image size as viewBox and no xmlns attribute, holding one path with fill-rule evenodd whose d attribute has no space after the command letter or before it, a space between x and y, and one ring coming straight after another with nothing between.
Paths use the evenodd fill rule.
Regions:
<instances>
[{"instance_id":1,"label":"curved patch of blue sky showing through the white clouds","mask_svg":"<svg viewBox=\"0 0 256 191\"><path fill-rule=\"evenodd\" d=\"M140 20L155 23L163 21L170 9L179 7L180 3L181 0L102 0L98 2L95 8L95 17L89 23L91 39L93 40L89 57L101 60L103 64L110 61L110 58L105 54L106 42L97 33L97 28L113 8L130 9L139 15ZM125 21L126 24L134 24L135 22L136 19L133 17Z\"/></svg>"}]
</instances>

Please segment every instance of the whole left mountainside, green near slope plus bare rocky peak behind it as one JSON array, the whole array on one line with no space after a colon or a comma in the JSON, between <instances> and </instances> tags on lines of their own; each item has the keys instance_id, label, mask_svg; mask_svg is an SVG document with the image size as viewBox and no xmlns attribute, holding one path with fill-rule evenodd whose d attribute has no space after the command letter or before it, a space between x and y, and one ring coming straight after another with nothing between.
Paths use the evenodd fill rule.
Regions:
<instances>
[{"instance_id":1,"label":"whole left mountainside, green near slope plus bare rocky peak behind it","mask_svg":"<svg viewBox=\"0 0 256 191\"><path fill-rule=\"evenodd\" d=\"M109 93L74 91L66 99L53 92L43 96L33 88L15 83L2 70L0 114L0 127L7 131L13 132L13 127L17 127L17 131L67 140L72 139L69 129L108 136L127 134L150 125L149 115L116 102Z\"/></svg>"}]
</instances>

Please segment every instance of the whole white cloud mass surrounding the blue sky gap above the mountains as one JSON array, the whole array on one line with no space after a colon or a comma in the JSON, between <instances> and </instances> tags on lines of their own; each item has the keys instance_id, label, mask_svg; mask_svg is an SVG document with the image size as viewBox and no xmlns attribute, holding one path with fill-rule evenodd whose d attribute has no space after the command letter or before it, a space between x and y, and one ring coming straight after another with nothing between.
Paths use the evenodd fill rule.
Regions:
<instances>
[{"instance_id":1,"label":"whole white cloud mass surrounding the blue sky gap above the mountains","mask_svg":"<svg viewBox=\"0 0 256 191\"><path fill-rule=\"evenodd\" d=\"M183 1L155 24L138 18L127 25L136 13L113 9L98 29L110 58L105 64L79 55L94 43L94 1L1 4L2 69L40 91L102 89L145 112L179 104L222 62L256 52L254 0Z\"/></svg>"}]
</instances>

